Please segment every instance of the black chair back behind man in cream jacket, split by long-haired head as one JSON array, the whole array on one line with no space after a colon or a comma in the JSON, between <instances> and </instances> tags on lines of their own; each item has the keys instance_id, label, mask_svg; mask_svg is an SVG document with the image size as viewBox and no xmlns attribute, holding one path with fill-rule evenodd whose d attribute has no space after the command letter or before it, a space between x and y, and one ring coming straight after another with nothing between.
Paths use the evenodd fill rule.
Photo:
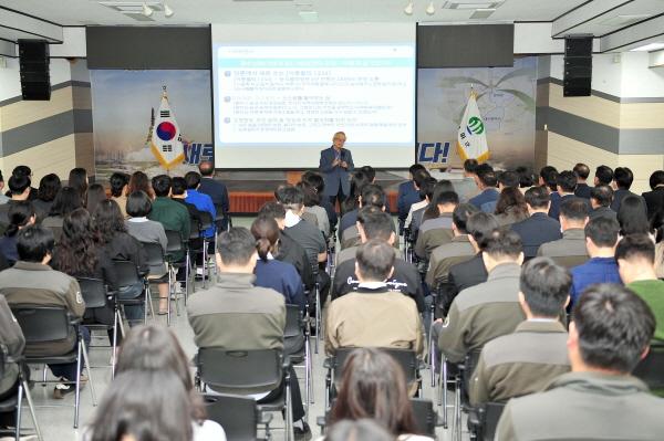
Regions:
<instances>
[{"instance_id":1,"label":"black chair back behind man in cream jacket, split by long-haired head","mask_svg":"<svg viewBox=\"0 0 664 441\"><path fill-rule=\"evenodd\" d=\"M325 409L330 407L330 402L336 393L336 387L341 382L343 374L343 365L351 353L356 349L354 347L339 348L336 353L328 357L323 363L323 367L328 369L325 376ZM422 395L422 381L419 377L419 369L422 363L417 358L412 349L397 349L397 348L378 348L380 350L388 354L394 360L402 367L405 376L406 384L408 386L417 384L417 395Z\"/></svg>"}]
</instances>

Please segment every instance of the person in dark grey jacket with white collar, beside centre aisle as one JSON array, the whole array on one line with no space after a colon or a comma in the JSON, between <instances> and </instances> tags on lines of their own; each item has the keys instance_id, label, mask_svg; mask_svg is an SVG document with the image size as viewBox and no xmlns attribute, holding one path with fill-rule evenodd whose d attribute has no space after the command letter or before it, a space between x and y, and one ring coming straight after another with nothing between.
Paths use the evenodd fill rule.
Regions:
<instances>
[{"instance_id":1,"label":"person in dark grey jacket with white collar, beside centre aisle","mask_svg":"<svg viewBox=\"0 0 664 441\"><path fill-rule=\"evenodd\" d=\"M317 274L322 307L330 291L330 276L325 271L320 269L320 264L328 261L325 238L323 238L323 233L318 228L311 223L302 222L300 216L304 210L304 196L300 189L293 186L284 187L279 193L279 200L286 209L284 231L307 251L309 265L313 273ZM310 298L309 305L312 308L315 306L313 298Z\"/></svg>"}]
</instances>

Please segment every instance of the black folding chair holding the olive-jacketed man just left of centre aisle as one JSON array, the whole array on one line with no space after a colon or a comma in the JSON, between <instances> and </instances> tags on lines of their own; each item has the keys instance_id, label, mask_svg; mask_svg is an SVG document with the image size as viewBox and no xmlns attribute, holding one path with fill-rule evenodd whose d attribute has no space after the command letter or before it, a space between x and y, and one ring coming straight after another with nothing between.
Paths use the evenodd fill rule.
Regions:
<instances>
[{"instance_id":1,"label":"black folding chair holding the olive-jacketed man just left of centre aisle","mask_svg":"<svg viewBox=\"0 0 664 441\"><path fill-rule=\"evenodd\" d=\"M290 361L284 360L281 350L200 348L196 363L196 382L203 392L209 387L221 393L250 395L283 387L283 393L269 403L260 403L259 409L268 412L286 411L286 438L294 440ZM266 431L269 432L269 427Z\"/></svg>"}]
</instances>

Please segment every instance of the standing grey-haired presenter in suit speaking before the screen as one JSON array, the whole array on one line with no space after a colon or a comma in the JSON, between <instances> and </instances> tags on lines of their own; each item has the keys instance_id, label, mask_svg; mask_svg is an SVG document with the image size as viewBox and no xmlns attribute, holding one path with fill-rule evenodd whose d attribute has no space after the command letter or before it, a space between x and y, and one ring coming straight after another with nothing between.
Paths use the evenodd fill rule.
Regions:
<instances>
[{"instance_id":1,"label":"standing grey-haired presenter in suit speaking before the screen","mask_svg":"<svg viewBox=\"0 0 664 441\"><path fill-rule=\"evenodd\" d=\"M343 148L345 139L345 134L338 132L332 138L332 146L321 151L319 169L325 181L324 196L330 199L332 207L336 199L341 207L351 191L350 172L355 166L351 150Z\"/></svg>"}]
</instances>

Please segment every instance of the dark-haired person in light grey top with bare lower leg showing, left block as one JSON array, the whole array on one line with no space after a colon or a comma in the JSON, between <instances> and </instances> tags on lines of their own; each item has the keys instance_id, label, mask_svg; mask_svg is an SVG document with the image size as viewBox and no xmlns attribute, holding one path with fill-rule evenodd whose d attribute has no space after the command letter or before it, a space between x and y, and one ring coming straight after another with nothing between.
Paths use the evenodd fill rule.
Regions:
<instances>
[{"instance_id":1,"label":"dark-haired person in light grey top with bare lower leg showing, left block","mask_svg":"<svg viewBox=\"0 0 664 441\"><path fill-rule=\"evenodd\" d=\"M147 219L147 216L152 212L152 201L144 191L129 193L127 198L127 214L129 219L125 221L125 227L127 228L127 233L138 242L158 243L164 254L166 254L168 240L166 239L164 225ZM168 313L168 282L163 282L163 280L167 280L167 277L164 277L167 274L167 269L164 265L157 274L154 274L153 270L151 269L149 276L160 277L159 282L157 282L159 288L159 315L165 315Z\"/></svg>"}]
</instances>

